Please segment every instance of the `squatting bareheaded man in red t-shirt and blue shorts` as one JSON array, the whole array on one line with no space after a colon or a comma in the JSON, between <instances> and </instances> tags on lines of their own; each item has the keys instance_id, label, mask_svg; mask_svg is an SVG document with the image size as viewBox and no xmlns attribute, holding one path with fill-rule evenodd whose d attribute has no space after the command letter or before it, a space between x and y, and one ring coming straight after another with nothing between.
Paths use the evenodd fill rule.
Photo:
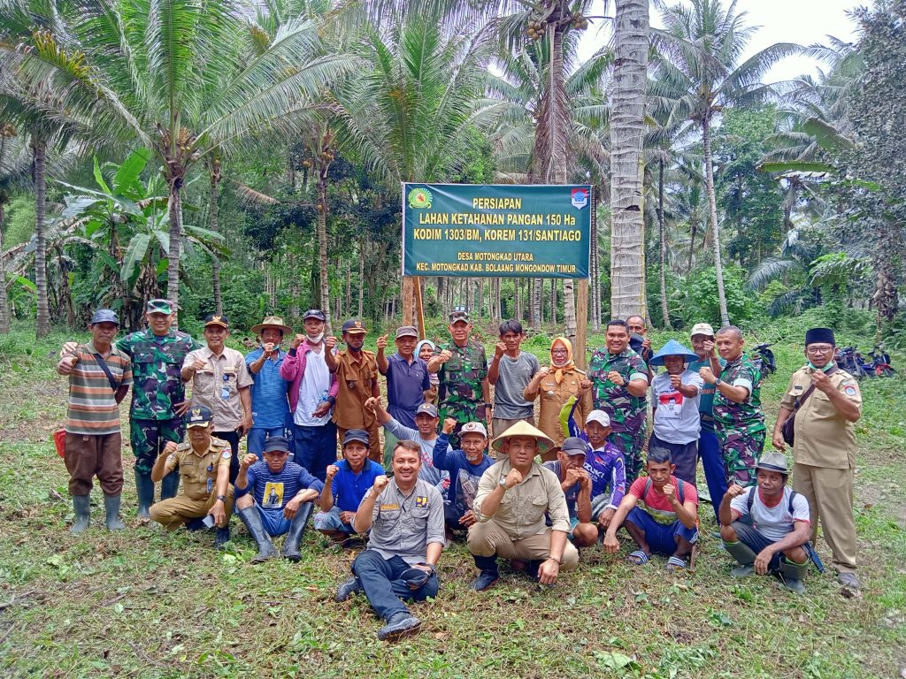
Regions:
<instances>
[{"instance_id":1,"label":"squatting bareheaded man in red t-shirt and blue shorts","mask_svg":"<svg viewBox=\"0 0 906 679\"><path fill-rule=\"evenodd\" d=\"M630 563L641 566L655 553L669 557L668 570L686 568L686 558L699 539L699 493L694 485L673 475L675 468L670 451L649 451L648 476L633 481L620 502L604 535L604 550L612 554L620 550L616 533L624 525L639 546L629 555ZM639 502L641 507L636 506Z\"/></svg>"}]
</instances>

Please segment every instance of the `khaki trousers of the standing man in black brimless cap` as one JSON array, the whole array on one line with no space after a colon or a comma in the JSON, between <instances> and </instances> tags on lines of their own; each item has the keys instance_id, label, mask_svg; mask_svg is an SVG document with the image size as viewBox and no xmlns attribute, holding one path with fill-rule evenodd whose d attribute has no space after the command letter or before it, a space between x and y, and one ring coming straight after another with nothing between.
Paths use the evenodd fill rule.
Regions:
<instances>
[{"instance_id":1,"label":"khaki trousers of the standing man in black brimless cap","mask_svg":"<svg viewBox=\"0 0 906 679\"><path fill-rule=\"evenodd\" d=\"M793 490L805 495L812 519L812 544L818 539L818 520L824 540L834 553L835 570L855 570L855 519L853 518L853 470L826 469L811 464L793 465Z\"/></svg>"}]
</instances>

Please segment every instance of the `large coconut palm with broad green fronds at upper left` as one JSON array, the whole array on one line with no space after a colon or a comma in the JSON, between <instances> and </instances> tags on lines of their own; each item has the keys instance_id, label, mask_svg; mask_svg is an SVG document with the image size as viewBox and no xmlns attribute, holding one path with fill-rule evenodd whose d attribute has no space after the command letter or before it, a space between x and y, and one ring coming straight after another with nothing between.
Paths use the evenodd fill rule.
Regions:
<instances>
[{"instance_id":1,"label":"large coconut palm with broad green fronds at upper left","mask_svg":"<svg viewBox=\"0 0 906 679\"><path fill-rule=\"evenodd\" d=\"M262 36L238 0L86 0L67 30L0 44L26 86L46 82L97 146L150 148L169 191L168 297L178 304L182 186L203 158L228 156L263 133L291 134L294 114L320 99L350 64L317 54L304 17ZM262 43L264 41L264 43Z\"/></svg>"}]
</instances>

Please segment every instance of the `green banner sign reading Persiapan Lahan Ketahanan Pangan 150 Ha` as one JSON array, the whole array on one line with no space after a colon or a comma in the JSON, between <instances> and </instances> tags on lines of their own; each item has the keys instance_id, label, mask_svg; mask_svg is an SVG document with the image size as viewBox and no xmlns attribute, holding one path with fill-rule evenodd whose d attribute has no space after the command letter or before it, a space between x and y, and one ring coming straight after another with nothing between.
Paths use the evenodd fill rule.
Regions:
<instances>
[{"instance_id":1,"label":"green banner sign reading Persiapan Lahan Ketahanan Pangan 150 Ha","mask_svg":"<svg viewBox=\"0 0 906 679\"><path fill-rule=\"evenodd\" d=\"M591 186L403 184L405 276L588 278Z\"/></svg>"}]
</instances>

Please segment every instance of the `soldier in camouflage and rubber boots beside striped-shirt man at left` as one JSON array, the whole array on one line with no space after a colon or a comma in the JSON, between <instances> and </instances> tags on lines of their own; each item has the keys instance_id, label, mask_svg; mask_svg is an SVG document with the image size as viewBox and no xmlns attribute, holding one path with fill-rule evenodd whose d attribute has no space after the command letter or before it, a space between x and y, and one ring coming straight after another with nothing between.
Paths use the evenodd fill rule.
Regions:
<instances>
[{"instance_id":1,"label":"soldier in camouflage and rubber boots beside striped-shirt man at left","mask_svg":"<svg viewBox=\"0 0 906 679\"><path fill-rule=\"evenodd\" d=\"M116 343L132 359L130 441L140 519L150 517L154 502L151 469L158 454L168 441L178 444L186 431L183 416L189 403L180 370L188 352L201 349L195 339L171 328L176 310L168 300L149 301L145 318L148 330L133 332ZM160 482L160 499L174 497L178 487L178 471L167 474Z\"/></svg>"}]
</instances>

